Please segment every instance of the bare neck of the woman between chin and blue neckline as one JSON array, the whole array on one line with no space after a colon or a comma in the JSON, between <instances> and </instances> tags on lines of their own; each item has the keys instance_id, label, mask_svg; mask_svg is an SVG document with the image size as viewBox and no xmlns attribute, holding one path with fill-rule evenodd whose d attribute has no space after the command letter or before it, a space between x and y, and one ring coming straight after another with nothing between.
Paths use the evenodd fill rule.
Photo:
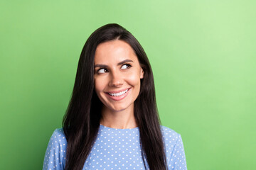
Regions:
<instances>
[{"instance_id":1,"label":"bare neck of the woman between chin and blue neckline","mask_svg":"<svg viewBox=\"0 0 256 170\"><path fill-rule=\"evenodd\" d=\"M117 129L137 128L133 107L124 111L110 111L103 106L100 124Z\"/></svg>"}]
</instances>

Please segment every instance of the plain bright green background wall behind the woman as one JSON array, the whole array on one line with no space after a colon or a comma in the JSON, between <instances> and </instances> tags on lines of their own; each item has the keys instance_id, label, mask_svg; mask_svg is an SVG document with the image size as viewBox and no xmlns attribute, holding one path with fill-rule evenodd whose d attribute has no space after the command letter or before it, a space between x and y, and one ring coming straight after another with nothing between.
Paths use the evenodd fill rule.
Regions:
<instances>
[{"instance_id":1,"label":"plain bright green background wall behind the woman","mask_svg":"<svg viewBox=\"0 0 256 170\"><path fill-rule=\"evenodd\" d=\"M256 1L0 2L0 166L42 169L89 35L119 23L141 42L162 125L188 169L255 169Z\"/></svg>"}]
</instances>

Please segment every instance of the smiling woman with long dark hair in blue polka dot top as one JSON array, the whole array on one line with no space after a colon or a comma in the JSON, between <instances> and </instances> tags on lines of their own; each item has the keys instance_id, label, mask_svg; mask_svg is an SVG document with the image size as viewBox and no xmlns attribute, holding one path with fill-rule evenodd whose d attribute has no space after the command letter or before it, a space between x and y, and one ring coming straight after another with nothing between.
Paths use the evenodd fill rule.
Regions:
<instances>
[{"instance_id":1,"label":"smiling woman with long dark hair in blue polka dot top","mask_svg":"<svg viewBox=\"0 0 256 170\"><path fill-rule=\"evenodd\" d=\"M102 26L85 42L43 169L186 169L181 135L159 123L146 53L122 26Z\"/></svg>"}]
</instances>

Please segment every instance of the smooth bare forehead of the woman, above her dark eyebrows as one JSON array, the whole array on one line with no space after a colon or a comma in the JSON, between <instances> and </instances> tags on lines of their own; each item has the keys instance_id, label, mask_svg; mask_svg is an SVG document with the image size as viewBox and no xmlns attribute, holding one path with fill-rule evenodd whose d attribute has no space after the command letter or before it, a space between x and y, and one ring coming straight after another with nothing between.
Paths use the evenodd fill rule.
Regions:
<instances>
[{"instance_id":1,"label":"smooth bare forehead of the woman, above her dark eyebrows","mask_svg":"<svg viewBox=\"0 0 256 170\"><path fill-rule=\"evenodd\" d=\"M137 61L137 56L132 47L122 40L103 42L97 46L95 51L96 64L121 62L127 59Z\"/></svg>"}]
</instances>

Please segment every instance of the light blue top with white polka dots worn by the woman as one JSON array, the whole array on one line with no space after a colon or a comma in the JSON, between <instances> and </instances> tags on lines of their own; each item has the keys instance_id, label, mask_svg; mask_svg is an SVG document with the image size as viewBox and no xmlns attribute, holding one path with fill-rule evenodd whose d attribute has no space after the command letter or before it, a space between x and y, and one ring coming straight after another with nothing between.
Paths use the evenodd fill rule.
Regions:
<instances>
[{"instance_id":1,"label":"light blue top with white polka dots worn by the woman","mask_svg":"<svg viewBox=\"0 0 256 170\"><path fill-rule=\"evenodd\" d=\"M161 126L161 130L169 169L187 169L181 135L164 126ZM43 170L65 169L66 149L67 140L63 129L56 129L46 149ZM139 145L139 128L114 129L100 125L82 170L86 169L145 169ZM147 163L146 169L149 169Z\"/></svg>"}]
</instances>

